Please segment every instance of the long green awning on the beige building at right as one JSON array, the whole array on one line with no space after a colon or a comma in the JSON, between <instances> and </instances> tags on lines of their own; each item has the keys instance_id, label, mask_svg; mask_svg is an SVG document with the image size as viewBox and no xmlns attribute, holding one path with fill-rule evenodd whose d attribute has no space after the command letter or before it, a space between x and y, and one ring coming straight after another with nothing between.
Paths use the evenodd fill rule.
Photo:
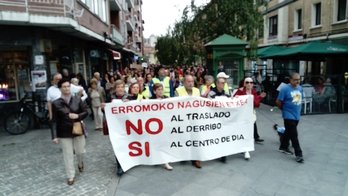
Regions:
<instances>
[{"instance_id":1,"label":"long green awning on the beige building at right","mask_svg":"<svg viewBox=\"0 0 348 196\"><path fill-rule=\"evenodd\" d=\"M263 58L281 58L301 55L330 56L348 54L348 45L335 44L332 42L308 42L299 46L289 47L285 50L263 56Z\"/></svg>"}]
</instances>

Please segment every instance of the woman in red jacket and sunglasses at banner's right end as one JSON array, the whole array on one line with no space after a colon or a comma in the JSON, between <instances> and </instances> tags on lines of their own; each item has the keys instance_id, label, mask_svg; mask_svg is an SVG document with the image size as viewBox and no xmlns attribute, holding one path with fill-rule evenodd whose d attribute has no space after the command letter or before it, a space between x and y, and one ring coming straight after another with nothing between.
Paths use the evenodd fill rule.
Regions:
<instances>
[{"instance_id":1,"label":"woman in red jacket and sunglasses at banner's right end","mask_svg":"<svg viewBox=\"0 0 348 196\"><path fill-rule=\"evenodd\" d=\"M250 78L250 77L245 78L244 79L244 86L242 88L239 88L234 96L239 96L239 95L253 95L254 96L254 113L253 113L254 139L255 139L255 142L263 142L264 140L260 138L260 136L257 132L255 108L260 107L260 102L264 97L266 97L266 93L262 92L260 95L258 95L256 90L253 88L253 85L254 85L254 82L253 82L252 78ZM245 158L245 160L250 159L249 152L244 153L244 158Z\"/></svg>"}]
</instances>

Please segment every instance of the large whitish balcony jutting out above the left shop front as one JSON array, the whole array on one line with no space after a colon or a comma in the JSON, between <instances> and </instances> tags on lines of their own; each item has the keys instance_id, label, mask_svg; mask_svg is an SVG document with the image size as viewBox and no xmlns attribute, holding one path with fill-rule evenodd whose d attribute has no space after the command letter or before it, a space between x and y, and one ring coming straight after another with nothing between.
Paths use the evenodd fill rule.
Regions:
<instances>
[{"instance_id":1,"label":"large whitish balcony jutting out above the left shop front","mask_svg":"<svg viewBox=\"0 0 348 196\"><path fill-rule=\"evenodd\" d=\"M81 4L77 0L0 0L0 25L46 27L86 40L113 44L111 40L105 40L100 33L102 30L97 31L89 25L89 20L102 25L104 23ZM109 28L105 27L103 31L109 31Z\"/></svg>"}]
</instances>

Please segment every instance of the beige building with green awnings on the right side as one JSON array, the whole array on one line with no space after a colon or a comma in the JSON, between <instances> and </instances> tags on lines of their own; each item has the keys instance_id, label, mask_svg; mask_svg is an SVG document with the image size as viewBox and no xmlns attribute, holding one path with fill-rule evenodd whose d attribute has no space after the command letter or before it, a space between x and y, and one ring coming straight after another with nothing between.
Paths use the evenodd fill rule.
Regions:
<instances>
[{"instance_id":1,"label":"beige building with green awnings on the right side","mask_svg":"<svg viewBox=\"0 0 348 196\"><path fill-rule=\"evenodd\" d=\"M317 105L314 112L348 111L347 4L347 0L271 0L260 9L263 75L278 84L283 76L299 72L316 88L310 95L311 107L312 101ZM333 85L333 95L319 97L322 81Z\"/></svg>"}]
</instances>

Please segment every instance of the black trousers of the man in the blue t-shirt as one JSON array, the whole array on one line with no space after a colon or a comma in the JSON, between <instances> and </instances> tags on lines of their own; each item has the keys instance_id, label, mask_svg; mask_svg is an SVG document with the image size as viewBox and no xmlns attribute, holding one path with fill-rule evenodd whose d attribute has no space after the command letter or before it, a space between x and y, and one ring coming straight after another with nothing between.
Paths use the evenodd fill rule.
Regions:
<instances>
[{"instance_id":1,"label":"black trousers of the man in the blue t-shirt","mask_svg":"<svg viewBox=\"0 0 348 196\"><path fill-rule=\"evenodd\" d=\"M282 137L280 148L281 149L289 148L289 143L291 140L292 147L294 147L295 149L295 155L302 156L302 150L300 147L300 142L298 141L298 134L297 134L298 121L284 119L284 125L285 125L285 132Z\"/></svg>"}]
</instances>

